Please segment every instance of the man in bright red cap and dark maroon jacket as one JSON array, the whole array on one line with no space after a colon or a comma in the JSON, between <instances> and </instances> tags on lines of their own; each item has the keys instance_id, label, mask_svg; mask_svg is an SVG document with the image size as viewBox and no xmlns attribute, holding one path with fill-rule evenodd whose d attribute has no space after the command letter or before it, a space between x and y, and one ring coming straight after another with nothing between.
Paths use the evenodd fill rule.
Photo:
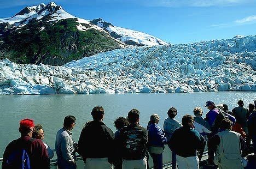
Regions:
<instances>
[{"instance_id":1,"label":"man in bright red cap and dark maroon jacket","mask_svg":"<svg viewBox=\"0 0 256 169\"><path fill-rule=\"evenodd\" d=\"M20 121L21 137L11 141L4 150L2 168L20 168L22 164L10 162L16 152L25 150L30 160L30 168L50 168L48 152L42 140L32 138L34 121L23 119ZM22 162L21 162L22 163Z\"/></svg>"}]
</instances>

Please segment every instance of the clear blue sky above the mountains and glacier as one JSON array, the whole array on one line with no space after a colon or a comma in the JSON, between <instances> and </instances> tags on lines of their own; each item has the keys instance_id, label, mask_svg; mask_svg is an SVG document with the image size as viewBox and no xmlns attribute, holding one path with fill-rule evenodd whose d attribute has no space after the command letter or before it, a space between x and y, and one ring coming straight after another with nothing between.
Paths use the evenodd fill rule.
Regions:
<instances>
[{"instance_id":1,"label":"clear blue sky above the mountains and glacier","mask_svg":"<svg viewBox=\"0 0 256 169\"><path fill-rule=\"evenodd\" d=\"M51 1L0 0L0 18ZM256 35L255 0L56 0L83 19L111 22L172 44Z\"/></svg>"}]
</instances>

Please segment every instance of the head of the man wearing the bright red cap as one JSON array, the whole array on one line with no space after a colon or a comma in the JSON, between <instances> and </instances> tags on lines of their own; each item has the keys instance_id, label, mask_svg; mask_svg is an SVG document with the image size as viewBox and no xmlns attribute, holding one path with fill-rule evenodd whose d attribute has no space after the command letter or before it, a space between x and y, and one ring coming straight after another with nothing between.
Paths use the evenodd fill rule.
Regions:
<instances>
[{"instance_id":1,"label":"head of the man wearing the bright red cap","mask_svg":"<svg viewBox=\"0 0 256 169\"><path fill-rule=\"evenodd\" d=\"M33 130L34 130L34 120L28 119L28 118L20 120L19 131L21 135L28 135L32 137Z\"/></svg>"}]
</instances>

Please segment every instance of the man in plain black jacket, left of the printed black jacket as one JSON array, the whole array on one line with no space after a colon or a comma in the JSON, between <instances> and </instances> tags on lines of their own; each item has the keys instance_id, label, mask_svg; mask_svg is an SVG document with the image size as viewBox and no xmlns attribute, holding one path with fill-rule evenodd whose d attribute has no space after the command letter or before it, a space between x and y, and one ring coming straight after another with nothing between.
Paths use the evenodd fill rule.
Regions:
<instances>
[{"instance_id":1,"label":"man in plain black jacket, left of the printed black jacket","mask_svg":"<svg viewBox=\"0 0 256 169\"><path fill-rule=\"evenodd\" d=\"M85 162L84 168L112 168L114 133L102 122L103 107L94 107L91 116L94 120L85 124L78 141L78 153Z\"/></svg>"}]
</instances>

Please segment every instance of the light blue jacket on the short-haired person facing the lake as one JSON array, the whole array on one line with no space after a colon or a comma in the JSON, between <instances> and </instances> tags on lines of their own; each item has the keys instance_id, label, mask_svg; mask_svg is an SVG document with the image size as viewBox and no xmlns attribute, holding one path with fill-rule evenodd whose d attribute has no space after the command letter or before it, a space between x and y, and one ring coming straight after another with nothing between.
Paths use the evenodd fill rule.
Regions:
<instances>
[{"instance_id":1,"label":"light blue jacket on the short-haired person facing the lake","mask_svg":"<svg viewBox=\"0 0 256 169\"><path fill-rule=\"evenodd\" d=\"M170 117L165 119L164 122L164 130L165 130L165 136L168 141L170 141L170 138L172 137L173 132L181 126L181 123L179 123L176 119L172 119Z\"/></svg>"}]
</instances>

